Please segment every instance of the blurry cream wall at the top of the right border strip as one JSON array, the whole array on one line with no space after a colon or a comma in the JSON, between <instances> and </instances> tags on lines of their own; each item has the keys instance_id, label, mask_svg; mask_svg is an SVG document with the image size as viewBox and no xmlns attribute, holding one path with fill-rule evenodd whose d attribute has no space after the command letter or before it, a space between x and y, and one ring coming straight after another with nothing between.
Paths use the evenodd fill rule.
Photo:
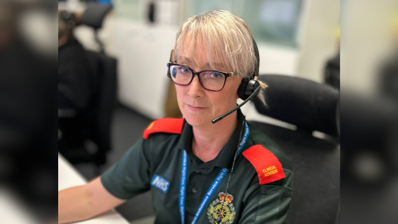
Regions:
<instances>
[{"instance_id":1,"label":"blurry cream wall at the top of the right border strip","mask_svg":"<svg viewBox=\"0 0 398 224\"><path fill-rule=\"evenodd\" d=\"M396 50L391 23L398 1L347 0L342 6L341 90L373 94L381 63Z\"/></svg>"}]
</instances>

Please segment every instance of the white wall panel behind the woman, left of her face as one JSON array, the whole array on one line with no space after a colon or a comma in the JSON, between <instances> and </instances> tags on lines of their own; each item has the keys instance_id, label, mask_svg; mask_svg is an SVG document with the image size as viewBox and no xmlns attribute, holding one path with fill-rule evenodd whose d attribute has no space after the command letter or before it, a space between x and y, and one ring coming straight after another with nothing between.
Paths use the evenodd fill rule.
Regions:
<instances>
[{"instance_id":1,"label":"white wall panel behind the woman, left of her face","mask_svg":"<svg viewBox=\"0 0 398 224\"><path fill-rule=\"evenodd\" d=\"M166 64L178 27L151 26L117 20L119 101L153 119L164 116Z\"/></svg>"}]
</instances>

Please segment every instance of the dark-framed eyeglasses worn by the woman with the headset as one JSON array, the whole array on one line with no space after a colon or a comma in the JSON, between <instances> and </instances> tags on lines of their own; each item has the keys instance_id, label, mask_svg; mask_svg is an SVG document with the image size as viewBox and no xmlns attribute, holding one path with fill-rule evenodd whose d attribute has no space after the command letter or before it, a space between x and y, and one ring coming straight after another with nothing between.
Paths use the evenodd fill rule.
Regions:
<instances>
[{"instance_id":1,"label":"dark-framed eyeglasses worn by the woman with the headset","mask_svg":"<svg viewBox=\"0 0 398 224\"><path fill-rule=\"evenodd\" d=\"M215 70L195 72L188 66L174 63L167 63L167 67L169 68L167 76L173 83L180 86L187 86L191 84L195 75L197 75L203 89L213 92L221 91L224 88L227 78L238 74L237 72L226 73Z\"/></svg>"}]
</instances>

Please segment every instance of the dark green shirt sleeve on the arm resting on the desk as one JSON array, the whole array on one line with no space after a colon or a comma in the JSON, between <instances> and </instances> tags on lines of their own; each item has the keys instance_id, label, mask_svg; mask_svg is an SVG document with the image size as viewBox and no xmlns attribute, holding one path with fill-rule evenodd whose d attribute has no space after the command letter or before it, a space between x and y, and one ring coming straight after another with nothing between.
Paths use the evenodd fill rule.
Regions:
<instances>
[{"instance_id":1,"label":"dark green shirt sleeve on the arm resting on the desk","mask_svg":"<svg viewBox=\"0 0 398 224\"><path fill-rule=\"evenodd\" d=\"M150 164L140 139L101 176L102 185L113 196L129 199L150 189Z\"/></svg>"}]
</instances>

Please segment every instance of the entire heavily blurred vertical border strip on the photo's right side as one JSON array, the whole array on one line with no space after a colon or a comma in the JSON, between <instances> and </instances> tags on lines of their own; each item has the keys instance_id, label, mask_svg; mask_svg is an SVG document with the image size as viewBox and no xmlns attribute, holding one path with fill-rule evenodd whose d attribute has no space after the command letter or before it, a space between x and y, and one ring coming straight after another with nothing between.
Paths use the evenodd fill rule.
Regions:
<instances>
[{"instance_id":1,"label":"entire heavily blurred vertical border strip on the photo's right side","mask_svg":"<svg viewBox=\"0 0 398 224\"><path fill-rule=\"evenodd\" d=\"M397 223L398 2L341 2L341 222Z\"/></svg>"}]
</instances>

